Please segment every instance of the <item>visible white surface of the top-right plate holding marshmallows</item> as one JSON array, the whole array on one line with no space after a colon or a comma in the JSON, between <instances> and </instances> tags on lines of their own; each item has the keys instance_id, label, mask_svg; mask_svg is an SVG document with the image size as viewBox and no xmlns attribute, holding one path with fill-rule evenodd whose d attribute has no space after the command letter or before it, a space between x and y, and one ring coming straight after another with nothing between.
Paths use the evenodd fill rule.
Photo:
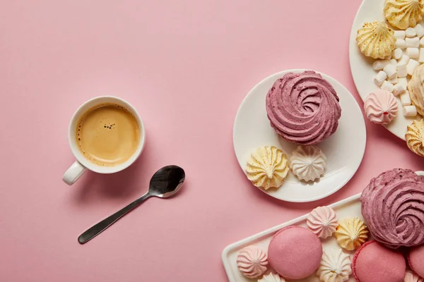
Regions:
<instances>
[{"instance_id":1,"label":"visible white surface of the top-right plate holding marshmallows","mask_svg":"<svg viewBox=\"0 0 424 282\"><path fill-rule=\"evenodd\" d=\"M365 98L370 92L379 89L379 87L374 83L377 72L372 68L372 63L375 59L368 58L360 52L358 46L356 46L356 33L364 23L375 20L385 20L383 8L384 0L364 0L359 7L358 13L356 13L355 20L353 20L351 39L349 42L349 61L351 62L353 81L363 101L365 101ZM396 118L394 118L394 121L384 126L391 133L405 140L406 126L410 125L415 118L406 118L402 114L400 99L397 99L397 101L399 111Z\"/></svg>"}]
</instances>

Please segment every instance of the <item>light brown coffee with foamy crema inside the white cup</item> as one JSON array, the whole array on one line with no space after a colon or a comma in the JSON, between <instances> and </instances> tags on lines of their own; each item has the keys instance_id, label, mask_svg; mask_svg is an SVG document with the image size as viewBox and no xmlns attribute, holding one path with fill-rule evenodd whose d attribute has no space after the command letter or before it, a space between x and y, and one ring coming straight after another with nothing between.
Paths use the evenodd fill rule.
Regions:
<instances>
[{"instance_id":1,"label":"light brown coffee with foamy crema inside the white cup","mask_svg":"<svg viewBox=\"0 0 424 282\"><path fill-rule=\"evenodd\" d=\"M76 142L86 159L99 166L116 166L136 152L140 126L136 118L117 104L101 104L78 122Z\"/></svg>"}]
</instances>

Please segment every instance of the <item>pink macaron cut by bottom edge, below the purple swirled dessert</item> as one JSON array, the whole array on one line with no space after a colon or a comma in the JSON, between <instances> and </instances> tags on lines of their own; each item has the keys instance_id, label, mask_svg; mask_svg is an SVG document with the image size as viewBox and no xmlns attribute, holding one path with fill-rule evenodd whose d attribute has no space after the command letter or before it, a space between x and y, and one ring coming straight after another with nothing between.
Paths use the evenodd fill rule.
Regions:
<instances>
[{"instance_id":1,"label":"pink macaron cut by bottom edge, below the purple swirled dessert","mask_svg":"<svg viewBox=\"0 0 424 282\"><path fill-rule=\"evenodd\" d=\"M370 240L355 252L352 271L358 282L403 282L406 261L400 252Z\"/></svg>"}]
</instances>

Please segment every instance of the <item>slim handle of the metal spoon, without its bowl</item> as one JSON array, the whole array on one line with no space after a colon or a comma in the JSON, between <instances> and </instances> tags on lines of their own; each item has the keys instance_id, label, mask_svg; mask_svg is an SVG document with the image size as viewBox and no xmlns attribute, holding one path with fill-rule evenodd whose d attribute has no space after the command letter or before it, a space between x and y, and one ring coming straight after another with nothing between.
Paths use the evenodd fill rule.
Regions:
<instances>
[{"instance_id":1,"label":"slim handle of the metal spoon, without its bowl","mask_svg":"<svg viewBox=\"0 0 424 282\"><path fill-rule=\"evenodd\" d=\"M84 233L79 235L78 242L80 244L87 243L89 240L99 235L99 233L101 233L102 231L105 231L105 229L111 226L115 221L117 221L122 216L130 212L131 209L134 209L135 207L137 207L139 204L144 202L149 197L151 197L151 194L149 192L146 192L146 194L139 197L139 199L135 200L134 202L131 202L131 204L128 204L126 207L123 207L118 212L115 212L114 214L107 217L106 219L103 219L99 223L91 226Z\"/></svg>"}]
</instances>

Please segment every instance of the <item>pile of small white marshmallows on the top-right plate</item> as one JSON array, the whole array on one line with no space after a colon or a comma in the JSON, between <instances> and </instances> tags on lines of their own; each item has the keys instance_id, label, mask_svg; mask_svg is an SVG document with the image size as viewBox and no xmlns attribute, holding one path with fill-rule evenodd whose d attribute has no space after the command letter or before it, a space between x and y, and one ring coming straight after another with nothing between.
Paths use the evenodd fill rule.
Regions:
<instances>
[{"instance_id":1,"label":"pile of small white marshmallows on the top-right plate","mask_svg":"<svg viewBox=\"0 0 424 282\"><path fill-rule=\"evenodd\" d=\"M395 30L396 49L390 58L375 61L372 68L379 71L374 78L376 85L401 99L404 116L416 116L416 106L411 105L411 97L406 90L408 78L424 63L424 26L418 23L416 27L407 30Z\"/></svg>"}]
</instances>

